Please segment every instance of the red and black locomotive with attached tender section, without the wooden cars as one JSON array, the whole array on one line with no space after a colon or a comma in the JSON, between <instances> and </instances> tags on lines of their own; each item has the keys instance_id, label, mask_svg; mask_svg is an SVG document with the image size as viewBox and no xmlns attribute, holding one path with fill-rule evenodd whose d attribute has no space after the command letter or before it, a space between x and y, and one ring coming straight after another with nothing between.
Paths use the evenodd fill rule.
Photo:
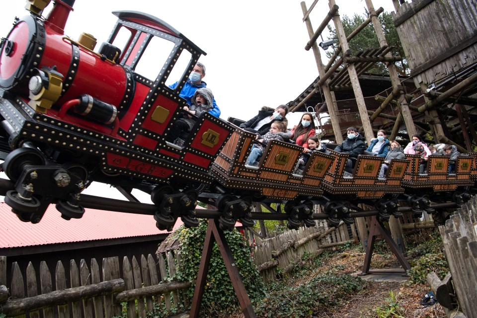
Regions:
<instances>
[{"instance_id":1,"label":"red and black locomotive with attached tender section, without the wooden cars","mask_svg":"<svg viewBox=\"0 0 477 318\"><path fill-rule=\"evenodd\" d=\"M234 127L204 113L184 147L165 139L185 105L179 92L205 52L135 11L113 12L117 23L95 52L91 35L64 35L73 2L56 0L42 18L43 2L27 1L30 15L2 39L0 120L10 149L2 168L15 182L5 202L23 221L39 222L50 203L64 218L80 218L79 193L99 181L151 193L162 228L178 216L171 209L196 224L195 186L212 182L209 168ZM163 61L143 61L149 51L159 55L158 47ZM137 73L143 64L156 69L154 77ZM182 69L171 89L165 83L175 67Z\"/></svg>"}]
</instances>

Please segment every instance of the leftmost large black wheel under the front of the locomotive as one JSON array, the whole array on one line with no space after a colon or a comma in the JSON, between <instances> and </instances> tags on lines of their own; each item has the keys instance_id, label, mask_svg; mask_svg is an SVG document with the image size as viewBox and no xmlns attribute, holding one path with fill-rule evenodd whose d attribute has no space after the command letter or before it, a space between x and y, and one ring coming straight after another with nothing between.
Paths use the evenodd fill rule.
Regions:
<instances>
[{"instance_id":1,"label":"leftmost large black wheel under the front of the locomotive","mask_svg":"<svg viewBox=\"0 0 477 318\"><path fill-rule=\"evenodd\" d=\"M25 165L43 165L45 158L36 149L18 148L9 153L3 162L3 171L8 178L15 182L23 172Z\"/></svg>"}]
</instances>

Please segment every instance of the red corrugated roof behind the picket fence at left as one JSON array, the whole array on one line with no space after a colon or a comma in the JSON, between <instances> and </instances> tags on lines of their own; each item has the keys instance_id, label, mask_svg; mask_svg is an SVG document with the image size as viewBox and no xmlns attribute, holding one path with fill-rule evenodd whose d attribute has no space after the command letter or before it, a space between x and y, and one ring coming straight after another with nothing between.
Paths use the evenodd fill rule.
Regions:
<instances>
[{"instance_id":1,"label":"red corrugated roof behind the picket fence at left","mask_svg":"<svg viewBox=\"0 0 477 318\"><path fill-rule=\"evenodd\" d=\"M140 215L85 209L81 219L61 218L55 205L50 205L38 224L21 222L11 208L0 202L0 248L80 242L98 239L119 239L158 234L151 215ZM177 220L174 230L182 225Z\"/></svg>"}]
</instances>

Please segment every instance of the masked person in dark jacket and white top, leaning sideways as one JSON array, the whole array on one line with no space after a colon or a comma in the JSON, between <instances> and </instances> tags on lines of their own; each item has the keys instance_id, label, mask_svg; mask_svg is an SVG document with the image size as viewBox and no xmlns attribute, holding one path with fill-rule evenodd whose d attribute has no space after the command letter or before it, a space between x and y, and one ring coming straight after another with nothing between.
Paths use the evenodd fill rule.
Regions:
<instances>
[{"instance_id":1,"label":"masked person in dark jacket and white top, leaning sideways","mask_svg":"<svg viewBox=\"0 0 477 318\"><path fill-rule=\"evenodd\" d=\"M252 132L254 134L265 135L269 130L272 122L282 121L288 124L285 116L288 114L288 106L280 105L273 109L263 106L258 115L240 124L240 128Z\"/></svg>"}]
</instances>

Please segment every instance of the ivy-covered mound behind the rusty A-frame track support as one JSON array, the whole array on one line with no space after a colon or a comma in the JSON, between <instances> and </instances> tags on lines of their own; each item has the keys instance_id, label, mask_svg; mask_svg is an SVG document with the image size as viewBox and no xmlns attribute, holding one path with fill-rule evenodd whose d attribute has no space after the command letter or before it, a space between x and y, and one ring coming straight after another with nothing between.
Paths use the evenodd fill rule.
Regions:
<instances>
[{"instance_id":1,"label":"ivy-covered mound behind the rusty A-frame track support","mask_svg":"<svg viewBox=\"0 0 477 318\"><path fill-rule=\"evenodd\" d=\"M182 259L177 264L174 280L195 282L197 279L206 230L207 221L201 221L196 228L186 229L182 226L174 234L180 241L177 253ZM252 262L247 242L235 229L225 232L225 237L234 255L235 265L239 270L247 294L253 303L263 297L264 285L255 264ZM195 285L184 291L189 299L192 299L194 288ZM237 297L227 268L217 244L214 244L201 307L207 311L208 309L232 309L237 305Z\"/></svg>"}]
</instances>

